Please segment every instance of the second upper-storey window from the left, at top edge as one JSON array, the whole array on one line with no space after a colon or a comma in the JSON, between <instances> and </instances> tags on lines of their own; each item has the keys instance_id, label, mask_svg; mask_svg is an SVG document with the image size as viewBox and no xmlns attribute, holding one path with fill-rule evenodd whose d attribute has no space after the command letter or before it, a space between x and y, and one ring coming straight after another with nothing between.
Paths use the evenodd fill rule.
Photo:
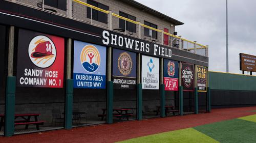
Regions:
<instances>
[{"instance_id":1,"label":"second upper-storey window from the left, at top edge","mask_svg":"<svg viewBox=\"0 0 256 143\"><path fill-rule=\"evenodd\" d=\"M100 3L92 1L92 0L87 0L87 3L92 5L92 6L101 8L103 10L109 10L110 9L108 6L100 4ZM91 8L89 8L89 7L87 7L87 18L91 19ZM108 23L108 14L105 14L103 12L92 9L92 19L107 24Z\"/></svg>"}]
</instances>

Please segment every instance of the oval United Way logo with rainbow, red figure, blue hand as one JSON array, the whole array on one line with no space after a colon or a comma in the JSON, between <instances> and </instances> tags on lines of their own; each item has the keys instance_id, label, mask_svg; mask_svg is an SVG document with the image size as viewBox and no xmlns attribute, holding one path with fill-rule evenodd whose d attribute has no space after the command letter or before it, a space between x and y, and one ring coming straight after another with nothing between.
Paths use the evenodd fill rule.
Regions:
<instances>
[{"instance_id":1,"label":"oval United Way logo with rainbow, red figure, blue hand","mask_svg":"<svg viewBox=\"0 0 256 143\"><path fill-rule=\"evenodd\" d=\"M100 66L100 53L95 46L87 45L83 47L80 57L84 70L90 73L97 71Z\"/></svg>"}]
</instances>

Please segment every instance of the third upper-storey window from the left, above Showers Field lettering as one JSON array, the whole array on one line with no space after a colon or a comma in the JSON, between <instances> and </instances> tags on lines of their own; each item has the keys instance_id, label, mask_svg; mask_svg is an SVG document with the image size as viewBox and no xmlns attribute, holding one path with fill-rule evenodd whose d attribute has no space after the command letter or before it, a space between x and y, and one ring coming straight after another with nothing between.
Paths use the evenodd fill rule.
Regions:
<instances>
[{"instance_id":1,"label":"third upper-storey window from the left, above Showers Field lettering","mask_svg":"<svg viewBox=\"0 0 256 143\"><path fill-rule=\"evenodd\" d=\"M135 16L126 14L124 12L119 12L119 15L122 16L122 17L125 17L125 18L136 21ZM129 32L136 33L136 24L126 21L126 28L124 28L124 26L125 26L124 22L125 22L125 20L119 19L119 28L126 29Z\"/></svg>"}]
</instances>

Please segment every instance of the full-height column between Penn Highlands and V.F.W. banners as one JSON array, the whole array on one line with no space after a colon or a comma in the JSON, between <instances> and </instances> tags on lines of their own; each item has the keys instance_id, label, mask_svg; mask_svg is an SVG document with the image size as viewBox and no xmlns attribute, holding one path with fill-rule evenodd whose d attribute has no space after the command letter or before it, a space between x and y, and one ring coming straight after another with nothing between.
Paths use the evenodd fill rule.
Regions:
<instances>
[{"instance_id":1,"label":"full-height column between Penn Highlands and V.F.W. banners","mask_svg":"<svg viewBox=\"0 0 256 143\"><path fill-rule=\"evenodd\" d=\"M163 84L163 58L160 59L160 117L165 117L165 91Z\"/></svg>"}]
</instances>

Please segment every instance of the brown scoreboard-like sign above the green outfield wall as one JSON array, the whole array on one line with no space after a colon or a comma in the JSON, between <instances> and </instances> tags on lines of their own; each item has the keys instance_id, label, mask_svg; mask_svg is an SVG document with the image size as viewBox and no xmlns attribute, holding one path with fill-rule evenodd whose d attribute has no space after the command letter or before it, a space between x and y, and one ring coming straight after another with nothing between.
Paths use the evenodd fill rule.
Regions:
<instances>
[{"instance_id":1,"label":"brown scoreboard-like sign above the green outfield wall","mask_svg":"<svg viewBox=\"0 0 256 143\"><path fill-rule=\"evenodd\" d=\"M240 70L256 72L256 56L240 53Z\"/></svg>"}]
</instances>

